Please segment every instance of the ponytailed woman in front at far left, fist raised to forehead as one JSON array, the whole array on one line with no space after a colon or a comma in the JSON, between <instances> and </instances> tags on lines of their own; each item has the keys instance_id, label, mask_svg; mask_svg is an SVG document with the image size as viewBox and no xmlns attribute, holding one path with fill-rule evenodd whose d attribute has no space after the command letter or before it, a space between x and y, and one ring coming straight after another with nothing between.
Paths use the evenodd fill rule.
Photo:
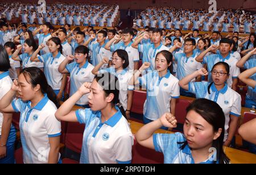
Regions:
<instances>
[{"instance_id":1,"label":"ponytailed woman in front at far left, fist raised to forehead","mask_svg":"<svg viewBox=\"0 0 256 175\"><path fill-rule=\"evenodd\" d=\"M19 99L13 99L16 94ZM61 125L55 118L56 95L39 68L25 68L0 100L3 113L20 113L23 162L58 163Z\"/></svg>"}]
</instances>

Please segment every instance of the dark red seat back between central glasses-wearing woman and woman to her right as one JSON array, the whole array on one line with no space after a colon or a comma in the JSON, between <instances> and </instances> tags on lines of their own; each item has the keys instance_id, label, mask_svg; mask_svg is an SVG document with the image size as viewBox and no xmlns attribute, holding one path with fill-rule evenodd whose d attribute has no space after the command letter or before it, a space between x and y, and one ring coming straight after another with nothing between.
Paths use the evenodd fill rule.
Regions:
<instances>
[{"instance_id":1,"label":"dark red seat back between central glasses-wearing woman and woman to her right","mask_svg":"<svg viewBox=\"0 0 256 175\"><path fill-rule=\"evenodd\" d=\"M147 98L146 91L134 90L133 106L131 106L131 112L137 113L137 114L143 114L143 106L146 98Z\"/></svg>"}]
</instances>

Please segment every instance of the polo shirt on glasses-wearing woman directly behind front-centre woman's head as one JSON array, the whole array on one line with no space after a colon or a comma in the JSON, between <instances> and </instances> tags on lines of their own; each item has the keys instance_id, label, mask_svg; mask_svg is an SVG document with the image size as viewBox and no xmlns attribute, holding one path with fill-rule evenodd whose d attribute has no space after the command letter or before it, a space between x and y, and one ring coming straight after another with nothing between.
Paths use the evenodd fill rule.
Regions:
<instances>
[{"instance_id":1,"label":"polo shirt on glasses-wearing woman directly behind front-centre woman's head","mask_svg":"<svg viewBox=\"0 0 256 175\"><path fill-rule=\"evenodd\" d=\"M122 72L115 72L115 68L112 66L107 69L102 69L98 73L109 72L115 75L119 81L119 101L123 106L123 109L127 109L128 90L134 90L133 86L129 86L129 81L133 77L133 71L123 69Z\"/></svg>"}]
</instances>

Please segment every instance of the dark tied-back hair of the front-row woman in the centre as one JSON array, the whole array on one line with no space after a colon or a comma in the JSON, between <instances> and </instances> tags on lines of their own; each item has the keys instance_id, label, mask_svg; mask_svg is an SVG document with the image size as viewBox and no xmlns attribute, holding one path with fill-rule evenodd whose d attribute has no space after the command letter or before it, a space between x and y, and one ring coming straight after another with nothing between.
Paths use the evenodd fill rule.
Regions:
<instances>
[{"instance_id":1,"label":"dark tied-back hair of the front-row woman in the centre","mask_svg":"<svg viewBox=\"0 0 256 175\"><path fill-rule=\"evenodd\" d=\"M119 101L119 81L118 78L109 72L97 74L95 80L102 87L105 92L105 97L108 97L109 94L113 94L114 98L112 100L112 105L117 106L121 111L122 115L126 117L125 110L122 107L122 104Z\"/></svg>"}]
</instances>

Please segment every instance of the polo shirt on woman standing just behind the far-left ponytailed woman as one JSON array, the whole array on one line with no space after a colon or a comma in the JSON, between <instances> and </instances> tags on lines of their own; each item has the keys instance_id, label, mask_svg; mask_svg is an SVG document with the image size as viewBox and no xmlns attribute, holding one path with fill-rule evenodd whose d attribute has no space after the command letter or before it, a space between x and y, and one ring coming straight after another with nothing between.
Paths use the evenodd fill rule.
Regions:
<instances>
[{"instance_id":1,"label":"polo shirt on woman standing just behind the far-left ponytailed woman","mask_svg":"<svg viewBox=\"0 0 256 175\"><path fill-rule=\"evenodd\" d=\"M55 58L53 58L52 53L46 53L39 56L38 59L44 62L44 74L46 75L48 85L53 90L60 90L63 74L58 69L61 62L65 60L65 57L59 52Z\"/></svg>"}]
</instances>

